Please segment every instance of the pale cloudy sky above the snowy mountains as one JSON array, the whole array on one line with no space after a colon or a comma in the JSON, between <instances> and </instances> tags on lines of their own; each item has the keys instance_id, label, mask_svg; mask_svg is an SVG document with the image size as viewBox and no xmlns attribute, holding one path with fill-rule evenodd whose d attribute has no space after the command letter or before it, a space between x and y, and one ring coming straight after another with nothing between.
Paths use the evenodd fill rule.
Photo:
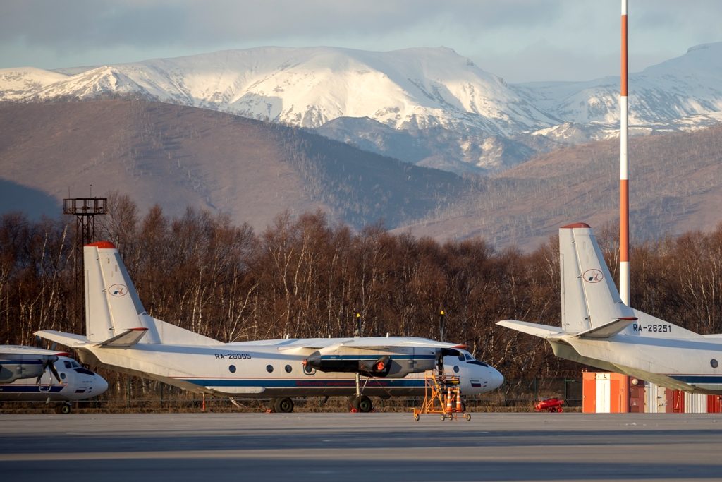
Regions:
<instances>
[{"instance_id":1,"label":"pale cloudy sky above the snowy mountains","mask_svg":"<svg viewBox=\"0 0 722 482\"><path fill-rule=\"evenodd\" d=\"M620 0L1 0L0 69L259 46L453 48L508 82L619 74ZM629 0L629 67L722 41L720 0Z\"/></svg>"}]
</instances>

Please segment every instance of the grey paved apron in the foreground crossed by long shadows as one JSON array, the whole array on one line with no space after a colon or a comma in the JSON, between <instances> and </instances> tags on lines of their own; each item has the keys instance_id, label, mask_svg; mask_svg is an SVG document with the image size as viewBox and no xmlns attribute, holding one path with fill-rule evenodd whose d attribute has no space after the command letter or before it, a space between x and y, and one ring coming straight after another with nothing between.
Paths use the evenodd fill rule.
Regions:
<instances>
[{"instance_id":1,"label":"grey paved apron in the foreground crossed by long shadows","mask_svg":"<svg viewBox=\"0 0 722 482\"><path fill-rule=\"evenodd\" d=\"M0 415L0 467L4 481L722 480L722 415Z\"/></svg>"}]
</instances>

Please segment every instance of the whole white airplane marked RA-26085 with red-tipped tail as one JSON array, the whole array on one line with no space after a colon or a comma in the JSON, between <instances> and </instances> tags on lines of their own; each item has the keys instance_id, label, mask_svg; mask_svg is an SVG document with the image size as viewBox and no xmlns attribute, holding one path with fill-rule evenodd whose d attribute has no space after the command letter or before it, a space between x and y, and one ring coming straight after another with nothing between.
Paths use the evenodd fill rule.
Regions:
<instances>
[{"instance_id":1,"label":"whole white airplane marked RA-26085 with red-tipped tail","mask_svg":"<svg viewBox=\"0 0 722 482\"><path fill-rule=\"evenodd\" d=\"M277 413L293 397L424 395L425 371L451 368L464 395L495 390L503 376L465 346L415 337L340 337L222 343L150 317L108 241L84 246L86 335L36 335L75 350L83 363L155 379L196 393L269 398Z\"/></svg>"}]
</instances>

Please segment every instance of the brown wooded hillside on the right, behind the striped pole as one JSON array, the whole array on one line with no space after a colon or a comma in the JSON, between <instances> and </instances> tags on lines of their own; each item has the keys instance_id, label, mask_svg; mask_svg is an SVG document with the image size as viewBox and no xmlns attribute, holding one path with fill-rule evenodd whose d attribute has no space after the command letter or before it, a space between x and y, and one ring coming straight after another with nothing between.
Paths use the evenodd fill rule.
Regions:
<instances>
[{"instance_id":1,"label":"brown wooded hillside on the right, behind the striped pole","mask_svg":"<svg viewBox=\"0 0 722 482\"><path fill-rule=\"evenodd\" d=\"M708 231L722 220L722 126L630 140L630 228L636 238ZM417 236L480 234L529 249L561 225L619 220L619 141L550 152L477 180L473 196L412 226Z\"/></svg>"}]
</instances>

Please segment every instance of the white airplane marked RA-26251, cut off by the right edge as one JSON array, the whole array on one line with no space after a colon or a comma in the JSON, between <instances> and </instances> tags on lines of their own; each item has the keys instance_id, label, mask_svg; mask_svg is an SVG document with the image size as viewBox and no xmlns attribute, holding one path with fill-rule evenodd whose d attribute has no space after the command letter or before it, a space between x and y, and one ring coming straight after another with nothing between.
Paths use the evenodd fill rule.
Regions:
<instances>
[{"instance_id":1,"label":"white airplane marked RA-26251, cut off by the right edge","mask_svg":"<svg viewBox=\"0 0 722 482\"><path fill-rule=\"evenodd\" d=\"M560 358L671 390L722 395L722 334L699 335L622 303L591 227L559 230L561 327L507 319L547 340Z\"/></svg>"}]
</instances>

